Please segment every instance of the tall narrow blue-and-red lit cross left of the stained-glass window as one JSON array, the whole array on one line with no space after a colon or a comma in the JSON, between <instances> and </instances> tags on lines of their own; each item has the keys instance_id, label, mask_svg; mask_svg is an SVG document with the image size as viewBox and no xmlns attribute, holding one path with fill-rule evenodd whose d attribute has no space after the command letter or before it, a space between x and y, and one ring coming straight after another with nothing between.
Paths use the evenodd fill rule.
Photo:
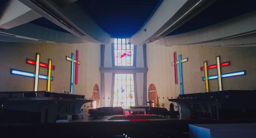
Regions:
<instances>
[{"instance_id":1,"label":"tall narrow blue-and-red lit cross left of the stained-glass window","mask_svg":"<svg viewBox=\"0 0 256 138\"><path fill-rule=\"evenodd\" d=\"M74 63L76 63L76 81L75 84L78 83L78 65L80 65L80 61L78 60L78 50L76 50L76 59L74 59L74 53L72 53L72 57L66 56L66 60L71 61L71 82L70 82L70 93L73 93L73 76L74 76Z\"/></svg>"}]
</instances>

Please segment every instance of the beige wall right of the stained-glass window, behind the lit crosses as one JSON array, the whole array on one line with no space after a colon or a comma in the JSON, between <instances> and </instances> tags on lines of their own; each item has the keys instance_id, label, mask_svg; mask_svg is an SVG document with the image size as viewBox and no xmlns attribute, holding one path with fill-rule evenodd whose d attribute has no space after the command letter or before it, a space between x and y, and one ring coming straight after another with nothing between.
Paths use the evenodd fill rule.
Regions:
<instances>
[{"instance_id":1,"label":"beige wall right of the stained-glass window, behind the lit crosses","mask_svg":"<svg viewBox=\"0 0 256 138\"><path fill-rule=\"evenodd\" d=\"M154 84L159 103L170 104L167 98L175 98L180 94L180 84L175 85L173 52L176 58L181 54L182 58L188 57L188 61L182 63L183 93L205 92L205 84L202 81L204 71L200 71L203 62L208 65L216 64L216 56L220 55L221 62L230 61L230 66L221 67L221 73L246 70L246 75L230 78L223 78L223 90L254 90L256 89L256 47L196 47L190 45L165 46L165 39L162 38L147 44L147 88ZM179 67L177 66L177 74ZM208 70L209 76L216 75L216 69ZM178 82L179 82L179 75ZM218 91L218 81L209 80L210 91ZM147 93L148 98L148 93ZM167 108L167 107L166 107Z\"/></svg>"}]
</instances>

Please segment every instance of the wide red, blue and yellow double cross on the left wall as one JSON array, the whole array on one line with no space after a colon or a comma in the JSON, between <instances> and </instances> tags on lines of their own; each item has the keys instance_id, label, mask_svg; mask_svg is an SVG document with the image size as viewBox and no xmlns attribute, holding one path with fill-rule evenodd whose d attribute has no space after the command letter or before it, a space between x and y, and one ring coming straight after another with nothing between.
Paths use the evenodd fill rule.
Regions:
<instances>
[{"instance_id":1,"label":"wide red, blue and yellow double cross on the left wall","mask_svg":"<svg viewBox=\"0 0 256 138\"><path fill-rule=\"evenodd\" d=\"M47 81L47 91L50 91L50 81L53 81L53 77L51 76L51 70L55 70L55 66L52 65L52 60L49 59L48 64L40 62L40 54L36 53L36 60L27 59L26 63L35 65L35 73L21 71L21 70L17 70L17 69L11 69L11 74L35 78L34 91L38 91L38 79L46 79L46 80L48 80ZM46 75L39 74L39 67L47 68L48 75L46 76Z\"/></svg>"}]
</instances>

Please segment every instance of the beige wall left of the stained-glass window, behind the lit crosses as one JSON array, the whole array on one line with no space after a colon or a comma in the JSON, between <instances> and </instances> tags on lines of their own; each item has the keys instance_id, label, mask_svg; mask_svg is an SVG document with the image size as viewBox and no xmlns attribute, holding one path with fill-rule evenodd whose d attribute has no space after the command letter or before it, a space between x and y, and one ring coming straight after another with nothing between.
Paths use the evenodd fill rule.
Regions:
<instances>
[{"instance_id":1,"label":"beige wall left of the stained-glass window, behind the lit crosses","mask_svg":"<svg viewBox=\"0 0 256 138\"><path fill-rule=\"evenodd\" d=\"M71 62L65 58L71 57L76 50L81 64L78 65L78 84L73 85L73 93L91 98L93 86L98 84L100 88L101 85L101 54L99 44L85 40L79 40L79 44L0 42L0 91L33 91L34 78L11 75L10 69L35 72L35 66L26 64L26 59L35 60L36 53L41 54L40 62L48 63L48 59L52 59L55 65L51 91L70 91ZM40 67L39 73L47 75L47 69ZM46 91L46 88L47 80L39 79L38 91Z\"/></svg>"}]
</instances>

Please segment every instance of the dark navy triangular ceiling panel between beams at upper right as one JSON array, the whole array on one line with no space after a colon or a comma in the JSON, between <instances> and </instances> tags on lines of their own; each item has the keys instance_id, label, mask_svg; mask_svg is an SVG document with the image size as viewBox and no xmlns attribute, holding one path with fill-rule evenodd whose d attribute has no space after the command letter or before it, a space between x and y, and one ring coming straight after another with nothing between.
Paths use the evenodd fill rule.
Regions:
<instances>
[{"instance_id":1,"label":"dark navy triangular ceiling panel between beams at upper right","mask_svg":"<svg viewBox=\"0 0 256 138\"><path fill-rule=\"evenodd\" d=\"M256 0L217 0L166 36L205 28L256 10Z\"/></svg>"}]
</instances>

